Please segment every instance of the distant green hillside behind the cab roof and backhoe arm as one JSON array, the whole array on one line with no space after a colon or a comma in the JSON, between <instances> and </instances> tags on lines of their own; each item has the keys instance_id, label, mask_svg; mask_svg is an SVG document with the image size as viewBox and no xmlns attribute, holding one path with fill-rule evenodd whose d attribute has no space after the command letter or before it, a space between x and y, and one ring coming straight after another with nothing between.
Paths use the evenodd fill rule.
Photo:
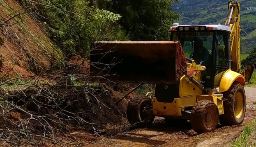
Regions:
<instances>
[{"instance_id":1,"label":"distant green hillside behind the cab roof and backhoe arm","mask_svg":"<svg viewBox=\"0 0 256 147\"><path fill-rule=\"evenodd\" d=\"M241 52L248 54L256 46L256 0L238 0L241 7ZM181 15L178 23L189 22L224 25L228 14L228 0L180 0L172 11ZM248 7L255 9L247 10Z\"/></svg>"}]
</instances>

